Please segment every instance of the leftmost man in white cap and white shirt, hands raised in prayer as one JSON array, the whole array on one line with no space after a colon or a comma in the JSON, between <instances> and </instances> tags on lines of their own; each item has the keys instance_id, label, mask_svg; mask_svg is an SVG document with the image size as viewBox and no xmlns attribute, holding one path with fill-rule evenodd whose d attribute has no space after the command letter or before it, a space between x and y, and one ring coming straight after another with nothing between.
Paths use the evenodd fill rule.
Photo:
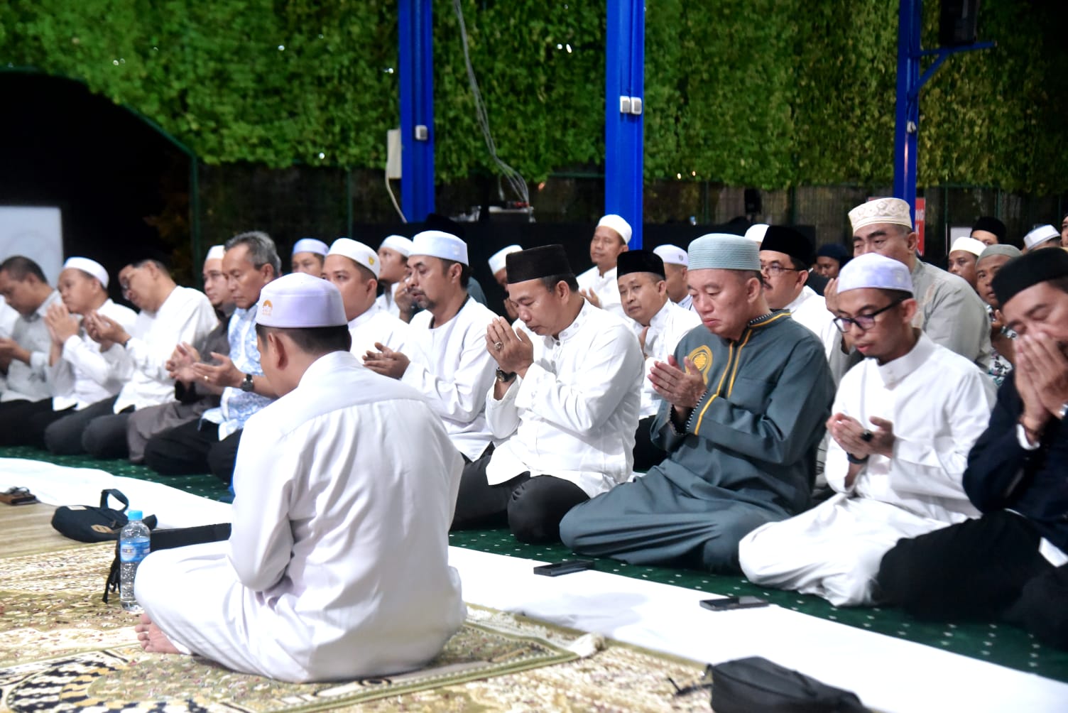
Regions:
<instances>
[{"instance_id":1,"label":"leftmost man in white cap and white shirt, hands raised in prayer","mask_svg":"<svg viewBox=\"0 0 1068 713\"><path fill-rule=\"evenodd\" d=\"M68 258L57 284L62 301L52 302L44 315L51 336L45 371L51 398L0 403L2 445L43 448L49 424L114 396L123 386L125 369L117 352L101 353L78 317L99 312L129 329L137 315L108 297L108 272L96 260Z\"/></svg>"}]
</instances>

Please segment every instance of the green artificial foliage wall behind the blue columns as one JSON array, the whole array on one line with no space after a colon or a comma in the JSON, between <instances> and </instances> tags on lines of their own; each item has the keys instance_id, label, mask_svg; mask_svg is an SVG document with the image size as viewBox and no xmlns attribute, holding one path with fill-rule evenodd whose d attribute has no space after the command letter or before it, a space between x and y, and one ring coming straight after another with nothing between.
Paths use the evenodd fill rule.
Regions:
<instances>
[{"instance_id":1,"label":"green artificial foliage wall behind the blue columns","mask_svg":"<svg viewBox=\"0 0 1068 713\"><path fill-rule=\"evenodd\" d=\"M461 4L501 158L531 183L601 164L604 3ZM1068 188L1065 4L983 3L980 36L999 47L927 84L922 186ZM437 177L497 173L453 0L434 12ZM399 123L396 31L395 0L7 0L0 66L83 81L208 163L377 168ZM649 0L646 178L890 183L896 42L891 0Z\"/></svg>"}]
</instances>

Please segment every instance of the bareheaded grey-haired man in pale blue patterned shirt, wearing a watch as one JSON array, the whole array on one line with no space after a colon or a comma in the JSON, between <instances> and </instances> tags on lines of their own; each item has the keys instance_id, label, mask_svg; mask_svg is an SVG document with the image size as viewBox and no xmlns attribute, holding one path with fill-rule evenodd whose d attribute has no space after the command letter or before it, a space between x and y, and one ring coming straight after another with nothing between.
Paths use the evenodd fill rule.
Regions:
<instances>
[{"instance_id":1,"label":"bareheaded grey-haired man in pale blue patterned shirt, wearing a watch","mask_svg":"<svg viewBox=\"0 0 1068 713\"><path fill-rule=\"evenodd\" d=\"M144 446L148 468L163 475L208 472L230 485L245 423L276 396L260 365L255 318L260 294L278 279L281 266L274 241L266 233L241 233L226 241L222 270L236 307L227 330L230 351L211 353L214 363L207 364L202 359L208 354L184 345L188 353L175 360L175 371L188 366L198 387L221 393L219 406L198 421L148 439Z\"/></svg>"}]
</instances>

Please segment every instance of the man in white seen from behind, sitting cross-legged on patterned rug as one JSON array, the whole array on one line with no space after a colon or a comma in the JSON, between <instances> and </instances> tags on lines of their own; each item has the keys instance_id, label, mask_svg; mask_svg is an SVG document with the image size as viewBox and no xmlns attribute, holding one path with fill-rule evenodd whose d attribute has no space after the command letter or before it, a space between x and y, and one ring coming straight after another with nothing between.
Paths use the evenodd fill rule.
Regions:
<instances>
[{"instance_id":1,"label":"man in white seen from behind, sitting cross-legged on patterned rug","mask_svg":"<svg viewBox=\"0 0 1068 713\"><path fill-rule=\"evenodd\" d=\"M294 682L418 669L464 622L462 460L418 392L349 352L331 283L272 282L256 322L280 398L246 427L230 539L141 563L141 646Z\"/></svg>"}]
</instances>

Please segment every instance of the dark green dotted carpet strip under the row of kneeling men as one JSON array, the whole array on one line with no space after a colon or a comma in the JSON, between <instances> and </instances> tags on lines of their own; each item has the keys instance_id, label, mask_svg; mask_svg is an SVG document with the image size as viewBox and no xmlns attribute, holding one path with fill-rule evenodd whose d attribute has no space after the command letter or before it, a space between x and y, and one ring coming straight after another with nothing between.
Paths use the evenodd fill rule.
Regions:
<instances>
[{"instance_id":1,"label":"dark green dotted carpet strip under the row of kneeling men","mask_svg":"<svg viewBox=\"0 0 1068 713\"><path fill-rule=\"evenodd\" d=\"M113 475L162 482L213 500L229 494L226 487L210 475L160 476L143 465L135 465L128 461L99 461L83 457L52 456L25 446L0 448L0 457L31 458L72 468L96 468ZM452 533L449 538L450 544L456 546L513 557L557 561L576 556L563 544L522 544L504 529ZM1031 634L1007 624L937 624L916 621L904 612L893 608L838 608L818 597L757 587L740 574L717 575L700 570L638 567L603 558L597 560L597 569L716 595L756 595L773 604L802 614L933 646L961 655L1068 683L1068 651L1051 649L1036 641Z\"/></svg>"}]
</instances>

